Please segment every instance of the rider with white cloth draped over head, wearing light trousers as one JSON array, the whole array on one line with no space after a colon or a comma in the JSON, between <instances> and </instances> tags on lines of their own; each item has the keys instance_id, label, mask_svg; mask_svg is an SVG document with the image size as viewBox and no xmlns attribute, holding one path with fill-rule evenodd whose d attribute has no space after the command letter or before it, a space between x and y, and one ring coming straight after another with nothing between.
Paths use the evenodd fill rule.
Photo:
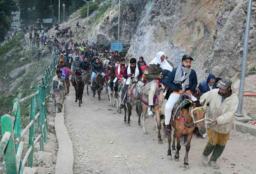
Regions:
<instances>
[{"instance_id":1,"label":"rider with white cloth draped over head, wearing light trousers","mask_svg":"<svg viewBox=\"0 0 256 174\"><path fill-rule=\"evenodd\" d=\"M157 87L156 80L162 78L162 70L172 71L172 69L172 66L165 60L165 53L163 52L158 52L156 57L149 63L147 78L151 80L151 82L147 85L150 85L150 91L148 92L148 115L153 115L151 108L154 105L153 100Z\"/></svg>"}]
</instances>

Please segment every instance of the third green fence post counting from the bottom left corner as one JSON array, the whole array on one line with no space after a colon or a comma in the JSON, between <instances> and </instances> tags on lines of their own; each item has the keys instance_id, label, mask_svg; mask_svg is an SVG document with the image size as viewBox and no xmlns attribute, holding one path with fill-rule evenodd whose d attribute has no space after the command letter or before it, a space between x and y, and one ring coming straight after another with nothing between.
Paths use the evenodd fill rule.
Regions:
<instances>
[{"instance_id":1,"label":"third green fence post counting from the bottom left corner","mask_svg":"<svg viewBox=\"0 0 256 174\"><path fill-rule=\"evenodd\" d=\"M34 120L35 119L35 100L36 97L33 97L31 99L31 105L30 105L30 121L31 120ZM34 124L29 128L29 143L28 143L28 148L31 147L31 146L34 146ZM30 168L32 168L33 166L33 149L32 151L30 152L29 154L29 157L28 157L28 166Z\"/></svg>"}]
</instances>

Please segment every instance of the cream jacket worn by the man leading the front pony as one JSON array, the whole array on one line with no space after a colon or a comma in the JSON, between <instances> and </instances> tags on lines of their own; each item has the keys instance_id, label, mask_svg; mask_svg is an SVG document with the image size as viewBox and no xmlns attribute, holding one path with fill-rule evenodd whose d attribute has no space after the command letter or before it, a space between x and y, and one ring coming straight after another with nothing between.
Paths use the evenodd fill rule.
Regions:
<instances>
[{"instance_id":1,"label":"cream jacket worn by the man leading the front pony","mask_svg":"<svg viewBox=\"0 0 256 174\"><path fill-rule=\"evenodd\" d=\"M238 106L238 93L232 89L231 96L222 102L222 97L218 95L219 89L213 89L204 93L200 98L200 103L206 100L209 103L210 114L208 118L217 120L217 125L210 128L219 133L229 133L233 126L233 120Z\"/></svg>"}]
</instances>

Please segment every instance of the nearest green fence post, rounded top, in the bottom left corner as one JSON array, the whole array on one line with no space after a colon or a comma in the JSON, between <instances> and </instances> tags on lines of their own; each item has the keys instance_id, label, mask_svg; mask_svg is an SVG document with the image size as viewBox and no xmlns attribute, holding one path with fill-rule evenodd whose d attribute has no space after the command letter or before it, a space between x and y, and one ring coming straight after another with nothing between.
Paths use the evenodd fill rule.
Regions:
<instances>
[{"instance_id":1,"label":"nearest green fence post, rounded top, in the bottom left corner","mask_svg":"<svg viewBox=\"0 0 256 174\"><path fill-rule=\"evenodd\" d=\"M11 115L6 114L1 117L1 130L2 135L4 135L5 132L11 133L9 143L7 144L4 152L6 174L17 174L18 169L16 166L16 150L14 144L14 132Z\"/></svg>"}]
</instances>

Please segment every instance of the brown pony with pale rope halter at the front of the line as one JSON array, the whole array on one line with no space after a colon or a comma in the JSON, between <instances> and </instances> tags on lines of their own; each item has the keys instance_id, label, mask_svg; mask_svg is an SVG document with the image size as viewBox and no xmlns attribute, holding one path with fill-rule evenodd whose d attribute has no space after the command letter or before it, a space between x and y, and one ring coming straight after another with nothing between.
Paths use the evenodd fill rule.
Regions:
<instances>
[{"instance_id":1,"label":"brown pony with pale rope halter at the front of the line","mask_svg":"<svg viewBox=\"0 0 256 174\"><path fill-rule=\"evenodd\" d=\"M180 98L183 98L184 95L182 95ZM185 95L186 97L187 95ZM199 101L196 101L195 103L192 102L189 99L181 100L181 104L178 105L180 108L176 108L177 110L180 110L180 114L175 117L175 109L173 108L172 113L172 119L170 121L171 126L174 128L174 134L173 134L173 144L172 144L172 150L175 149L175 138L177 140L177 150L174 156L175 161L179 161L180 154L179 151L181 149L180 140L182 135L187 135L187 145L186 145L186 154L184 157L184 169L187 170L189 168L188 164L188 152L190 149L190 142L192 139L193 131L196 128L196 125L200 131L200 133L205 133L205 111L203 108L203 105L205 101L203 101L201 104ZM161 112L164 113L165 104L161 107ZM174 113L175 112L175 113ZM171 134L170 134L171 135ZM171 141L172 137L168 137L168 153L167 157L171 159L172 153L171 153Z\"/></svg>"}]
</instances>

